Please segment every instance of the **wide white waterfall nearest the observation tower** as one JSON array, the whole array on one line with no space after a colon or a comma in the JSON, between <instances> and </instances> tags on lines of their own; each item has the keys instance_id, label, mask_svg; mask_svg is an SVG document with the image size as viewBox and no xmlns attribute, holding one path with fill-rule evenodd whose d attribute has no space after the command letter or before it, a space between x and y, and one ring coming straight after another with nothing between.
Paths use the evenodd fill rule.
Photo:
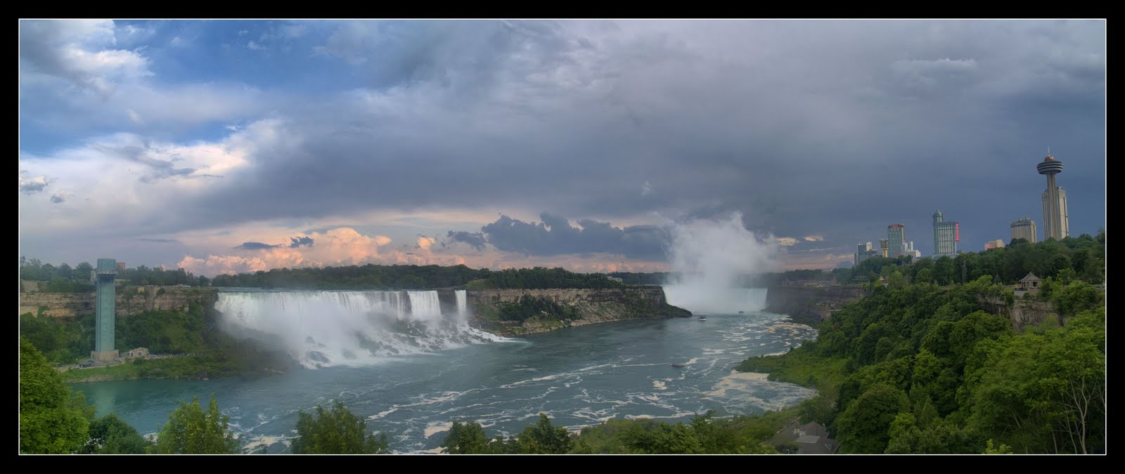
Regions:
<instances>
[{"instance_id":1,"label":"wide white waterfall nearest the observation tower","mask_svg":"<svg viewBox=\"0 0 1125 474\"><path fill-rule=\"evenodd\" d=\"M504 338L446 317L436 291L220 292L223 329L284 349L305 367L370 365Z\"/></svg>"}]
</instances>

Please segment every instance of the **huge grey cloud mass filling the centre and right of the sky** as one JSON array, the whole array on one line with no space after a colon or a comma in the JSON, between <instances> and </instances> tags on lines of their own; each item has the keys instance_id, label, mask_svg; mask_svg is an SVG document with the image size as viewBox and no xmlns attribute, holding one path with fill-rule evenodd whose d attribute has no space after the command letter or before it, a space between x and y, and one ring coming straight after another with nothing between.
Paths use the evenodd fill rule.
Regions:
<instances>
[{"instance_id":1,"label":"huge grey cloud mass filling the centre and right of the sky","mask_svg":"<svg viewBox=\"0 0 1125 474\"><path fill-rule=\"evenodd\" d=\"M979 249L1042 216L1033 168L1047 146L1066 164L1071 228L1105 225L1104 20L322 25L303 36L309 51L368 88L271 102L260 135L240 118L223 145L246 165L148 231L372 208L609 221L737 210L758 234L822 235L844 253L903 224L928 253L939 207ZM21 61L52 67L20 35ZM142 180L194 172L144 146L115 153ZM663 255L656 227L541 219L447 238Z\"/></svg>"}]
</instances>

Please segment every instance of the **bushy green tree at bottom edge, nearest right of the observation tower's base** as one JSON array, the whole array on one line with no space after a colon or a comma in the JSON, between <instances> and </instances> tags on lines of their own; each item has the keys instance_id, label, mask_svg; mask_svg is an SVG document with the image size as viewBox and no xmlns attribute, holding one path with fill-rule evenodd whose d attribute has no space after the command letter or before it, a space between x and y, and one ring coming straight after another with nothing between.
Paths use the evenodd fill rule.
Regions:
<instances>
[{"instance_id":1,"label":"bushy green tree at bottom edge, nearest right of the observation tower's base","mask_svg":"<svg viewBox=\"0 0 1125 474\"><path fill-rule=\"evenodd\" d=\"M156 436L156 445L151 452L156 454L238 454L241 444L227 430L230 418L218 411L218 400L210 395L210 404L205 412L199 399L191 403L181 401L180 407L169 413L168 423Z\"/></svg>"}]
</instances>

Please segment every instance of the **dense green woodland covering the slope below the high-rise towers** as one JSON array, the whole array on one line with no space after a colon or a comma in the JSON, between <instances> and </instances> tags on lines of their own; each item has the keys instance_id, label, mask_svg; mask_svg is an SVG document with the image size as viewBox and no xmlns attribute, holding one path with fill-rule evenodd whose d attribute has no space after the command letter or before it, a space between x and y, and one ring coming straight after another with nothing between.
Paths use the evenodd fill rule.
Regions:
<instances>
[{"instance_id":1,"label":"dense green woodland covering the slope below the high-rise towers","mask_svg":"<svg viewBox=\"0 0 1125 474\"><path fill-rule=\"evenodd\" d=\"M1060 286L1056 307L1076 313L1066 326L1015 335L982 308L1011 294L994 280L873 288L816 341L738 368L816 385L798 411L845 453L980 453L989 438L1026 453L1104 453L1105 312L1083 312L1101 292Z\"/></svg>"}]
</instances>

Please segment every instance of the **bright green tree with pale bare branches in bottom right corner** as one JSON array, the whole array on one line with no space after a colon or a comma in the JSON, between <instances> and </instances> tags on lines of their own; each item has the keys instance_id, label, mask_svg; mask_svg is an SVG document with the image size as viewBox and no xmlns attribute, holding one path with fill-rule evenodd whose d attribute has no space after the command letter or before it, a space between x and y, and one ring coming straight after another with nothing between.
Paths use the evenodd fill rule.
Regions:
<instances>
[{"instance_id":1,"label":"bright green tree with pale bare branches in bottom right corner","mask_svg":"<svg viewBox=\"0 0 1125 474\"><path fill-rule=\"evenodd\" d=\"M1105 310L990 340L965 367L969 425L1024 453L1104 453Z\"/></svg>"}]
</instances>

